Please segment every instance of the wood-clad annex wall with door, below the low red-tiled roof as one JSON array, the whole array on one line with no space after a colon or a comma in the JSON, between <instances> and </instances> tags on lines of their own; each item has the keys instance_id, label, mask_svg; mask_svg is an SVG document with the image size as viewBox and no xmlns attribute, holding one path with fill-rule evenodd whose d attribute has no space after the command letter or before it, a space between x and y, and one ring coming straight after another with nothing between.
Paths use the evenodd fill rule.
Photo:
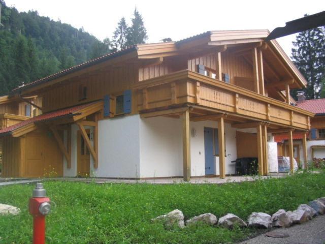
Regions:
<instances>
[{"instance_id":1,"label":"wood-clad annex wall with door, below the low red-tiled roof","mask_svg":"<svg viewBox=\"0 0 325 244\"><path fill-rule=\"evenodd\" d=\"M63 176L62 153L47 130L3 140L3 177Z\"/></svg>"}]
</instances>

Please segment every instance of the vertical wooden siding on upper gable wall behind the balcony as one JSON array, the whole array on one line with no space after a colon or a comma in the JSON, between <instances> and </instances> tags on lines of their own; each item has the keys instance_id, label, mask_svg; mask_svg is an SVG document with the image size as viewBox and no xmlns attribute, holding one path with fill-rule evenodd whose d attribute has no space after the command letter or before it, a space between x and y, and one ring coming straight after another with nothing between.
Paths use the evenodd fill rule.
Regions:
<instances>
[{"instance_id":1,"label":"vertical wooden siding on upper gable wall behind the balcony","mask_svg":"<svg viewBox=\"0 0 325 244\"><path fill-rule=\"evenodd\" d=\"M221 71L229 74L230 83L235 84L235 77L244 77L253 79L253 68L241 56L235 56L230 52L221 53ZM216 54L207 54L204 56L191 58L187 62L188 70L197 72L198 65L216 70Z\"/></svg>"}]
</instances>

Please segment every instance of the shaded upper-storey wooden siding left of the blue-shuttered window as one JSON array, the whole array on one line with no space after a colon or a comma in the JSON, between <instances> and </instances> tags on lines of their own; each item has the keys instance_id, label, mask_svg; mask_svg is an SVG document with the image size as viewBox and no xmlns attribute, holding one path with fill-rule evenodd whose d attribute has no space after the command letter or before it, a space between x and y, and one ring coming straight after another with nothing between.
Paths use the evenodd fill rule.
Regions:
<instances>
[{"instance_id":1,"label":"shaded upper-storey wooden siding left of the blue-shuttered window","mask_svg":"<svg viewBox=\"0 0 325 244\"><path fill-rule=\"evenodd\" d=\"M115 67L97 74L81 76L55 86L42 94L43 113L77 104L103 99L104 95L121 94L138 82L138 71L134 65ZM79 86L87 87L87 98L79 99Z\"/></svg>"}]
</instances>

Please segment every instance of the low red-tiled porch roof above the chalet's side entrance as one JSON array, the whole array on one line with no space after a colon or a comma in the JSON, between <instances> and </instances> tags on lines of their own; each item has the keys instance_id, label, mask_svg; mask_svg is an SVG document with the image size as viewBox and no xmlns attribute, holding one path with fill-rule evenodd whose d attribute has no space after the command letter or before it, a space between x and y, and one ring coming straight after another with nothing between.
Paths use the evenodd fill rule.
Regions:
<instances>
[{"instance_id":1,"label":"low red-tiled porch roof above the chalet's side entrance","mask_svg":"<svg viewBox=\"0 0 325 244\"><path fill-rule=\"evenodd\" d=\"M70 108L60 109L49 113L43 113L36 117L32 117L30 119L21 121L18 124L0 130L0 137L7 136L7 135L21 136L23 134L35 130L36 123L50 121L53 119L78 116L81 115L83 112L86 112L88 108L93 107L93 105L101 104L101 103L102 102L91 102L91 103L82 104ZM17 135L15 135L15 133Z\"/></svg>"}]
</instances>

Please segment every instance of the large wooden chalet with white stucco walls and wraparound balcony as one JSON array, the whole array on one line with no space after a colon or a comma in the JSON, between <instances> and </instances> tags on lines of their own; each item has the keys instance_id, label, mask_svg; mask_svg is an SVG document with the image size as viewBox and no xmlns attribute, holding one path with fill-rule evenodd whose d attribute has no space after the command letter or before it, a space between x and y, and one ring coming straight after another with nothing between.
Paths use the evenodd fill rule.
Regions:
<instances>
[{"instance_id":1,"label":"large wooden chalet with white stucco walls and wraparound balcony","mask_svg":"<svg viewBox=\"0 0 325 244\"><path fill-rule=\"evenodd\" d=\"M272 133L287 133L293 159L293 131L314 116L290 104L307 82L268 35L139 44L12 90L42 98L42 114L0 131L3 176L224 178L241 157L267 175Z\"/></svg>"}]
</instances>

